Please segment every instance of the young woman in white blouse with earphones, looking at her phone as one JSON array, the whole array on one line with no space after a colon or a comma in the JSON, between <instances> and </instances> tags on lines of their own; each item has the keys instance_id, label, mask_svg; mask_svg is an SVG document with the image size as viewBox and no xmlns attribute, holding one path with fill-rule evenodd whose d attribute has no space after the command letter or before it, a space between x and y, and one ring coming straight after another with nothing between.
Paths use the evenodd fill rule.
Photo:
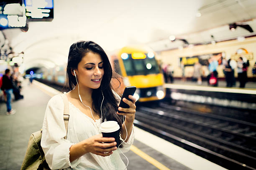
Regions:
<instances>
[{"instance_id":1,"label":"young woman in white blouse with earphones, looking at her phone","mask_svg":"<svg viewBox=\"0 0 256 170\"><path fill-rule=\"evenodd\" d=\"M120 96L112 90L111 78L110 62L99 45L92 41L71 45L67 64L67 85L71 90L67 93L70 115L67 140L64 139L64 103L60 95L49 100L43 123L41 146L51 169L126 169L115 138L103 138L99 128L101 122L117 121L120 126L119 143L123 143L120 150L128 151L134 139L136 99L129 95L132 101L123 101L130 107L118 108Z\"/></svg>"}]
</instances>

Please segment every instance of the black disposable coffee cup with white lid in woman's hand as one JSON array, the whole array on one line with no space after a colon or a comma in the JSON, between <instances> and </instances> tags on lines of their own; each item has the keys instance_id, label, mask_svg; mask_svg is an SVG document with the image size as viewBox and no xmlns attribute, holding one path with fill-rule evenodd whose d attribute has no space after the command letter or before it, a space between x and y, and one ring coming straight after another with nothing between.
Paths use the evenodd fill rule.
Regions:
<instances>
[{"instance_id":1,"label":"black disposable coffee cup with white lid in woman's hand","mask_svg":"<svg viewBox=\"0 0 256 170\"><path fill-rule=\"evenodd\" d=\"M106 121L100 124L100 131L103 137L115 138L117 146L119 145L120 127L116 121Z\"/></svg>"}]
</instances>

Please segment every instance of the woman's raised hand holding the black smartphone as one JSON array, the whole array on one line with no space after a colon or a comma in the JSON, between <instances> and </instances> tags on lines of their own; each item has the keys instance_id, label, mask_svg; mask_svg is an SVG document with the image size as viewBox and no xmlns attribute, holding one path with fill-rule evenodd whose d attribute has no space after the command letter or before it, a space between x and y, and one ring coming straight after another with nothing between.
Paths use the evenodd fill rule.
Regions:
<instances>
[{"instance_id":1,"label":"woman's raised hand holding the black smartphone","mask_svg":"<svg viewBox=\"0 0 256 170\"><path fill-rule=\"evenodd\" d=\"M123 98L123 102L125 102L127 105L129 105L129 108L123 108L123 107L118 107L118 110L123 111L122 113L117 112L118 115L125 115L126 116L126 121L128 122L133 122L135 118L135 112L136 112L136 98L133 97L132 95L128 96L130 100L127 100L126 98ZM119 105L119 104L118 104Z\"/></svg>"}]
</instances>

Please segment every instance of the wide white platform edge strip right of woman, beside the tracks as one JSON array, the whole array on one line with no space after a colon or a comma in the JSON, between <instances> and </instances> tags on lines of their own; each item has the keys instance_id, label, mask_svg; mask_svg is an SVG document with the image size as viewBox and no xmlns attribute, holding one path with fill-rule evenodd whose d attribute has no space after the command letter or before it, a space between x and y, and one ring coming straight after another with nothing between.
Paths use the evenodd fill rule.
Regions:
<instances>
[{"instance_id":1,"label":"wide white platform edge strip right of woman, beside the tracks","mask_svg":"<svg viewBox=\"0 0 256 170\"><path fill-rule=\"evenodd\" d=\"M192 170L227 170L220 165L210 162L194 153L174 145L162 138L146 132L138 127L134 127L135 139L148 145L160 153L176 160Z\"/></svg>"}]
</instances>

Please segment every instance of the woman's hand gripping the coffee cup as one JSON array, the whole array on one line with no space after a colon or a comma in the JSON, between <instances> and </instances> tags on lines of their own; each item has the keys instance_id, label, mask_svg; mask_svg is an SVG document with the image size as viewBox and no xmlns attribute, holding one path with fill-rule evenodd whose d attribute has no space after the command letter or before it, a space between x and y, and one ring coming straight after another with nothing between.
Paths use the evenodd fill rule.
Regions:
<instances>
[{"instance_id":1,"label":"woman's hand gripping the coffee cup","mask_svg":"<svg viewBox=\"0 0 256 170\"><path fill-rule=\"evenodd\" d=\"M100 156L109 156L117 149L115 138L103 138L102 134L92 136L84 141L86 141L84 149L87 152Z\"/></svg>"}]
</instances>

